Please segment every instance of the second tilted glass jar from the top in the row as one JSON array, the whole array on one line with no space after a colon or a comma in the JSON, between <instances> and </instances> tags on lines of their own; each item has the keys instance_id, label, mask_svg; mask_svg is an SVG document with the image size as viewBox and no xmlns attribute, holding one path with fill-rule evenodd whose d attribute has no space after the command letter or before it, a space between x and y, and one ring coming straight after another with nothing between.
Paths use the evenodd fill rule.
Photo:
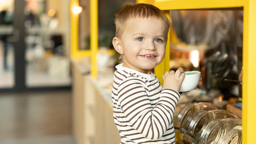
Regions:
<instances>
[{"instance_id":1,"label":"second tilted glass jar from the top in the row","mask_svg":"<svg viewBox=\"0 0 256 144\"><path fill-rule=\"evenodd\" d=\"M191 121L188 132L197 136L205 126L214 119L240 118L236 114L226 110L200 111Z\"/></svg>"}]
</instances>

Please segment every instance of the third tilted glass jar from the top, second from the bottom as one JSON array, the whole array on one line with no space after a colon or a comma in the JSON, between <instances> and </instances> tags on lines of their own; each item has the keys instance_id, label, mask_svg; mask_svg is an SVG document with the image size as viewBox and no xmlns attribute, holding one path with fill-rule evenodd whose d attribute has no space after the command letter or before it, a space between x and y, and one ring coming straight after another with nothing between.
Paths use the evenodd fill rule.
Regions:
<instances>
[{"instance_id":1,"label":"third tilted glass jar from the top, second from the bottom","mask_svg":"<svg viewBox=\"0 0 256 144\"><path fill-rule=\"evenodd\" d=\"M199 138L200 144L220 143L223 136L230 130L242 126L242 120L237 118L215 119L206 125Z\"/></svg>"}]
</instances>

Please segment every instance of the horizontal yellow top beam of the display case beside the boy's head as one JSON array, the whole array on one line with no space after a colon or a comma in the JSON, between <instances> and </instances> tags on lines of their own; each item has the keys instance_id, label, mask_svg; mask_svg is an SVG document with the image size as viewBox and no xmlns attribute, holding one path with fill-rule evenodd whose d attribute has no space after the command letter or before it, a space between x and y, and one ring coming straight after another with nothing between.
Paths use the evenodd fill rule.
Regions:
<instances>
[{"instance_id":1,"label":"horizontal yellow top beam of the display case beside the boy's head","mask_svg":"<svg viewBox=\"0 0 256 144\"><path fill-rule=\"evenodd\" d=\"M156 0L155 6L161 10L185 10L208 8L243 7L242 0Z\"/></svg>"}]
</instances>

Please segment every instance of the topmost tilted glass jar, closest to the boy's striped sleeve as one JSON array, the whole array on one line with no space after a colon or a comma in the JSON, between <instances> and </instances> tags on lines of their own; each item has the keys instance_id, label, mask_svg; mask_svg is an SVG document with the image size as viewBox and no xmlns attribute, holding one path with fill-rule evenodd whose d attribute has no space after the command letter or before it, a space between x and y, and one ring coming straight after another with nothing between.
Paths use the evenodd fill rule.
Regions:
<instances>
[{"instance_id":1,"label":"topmost tilted glass jar, closest to the boy's striped sleeve","mask_svg":"<svg viewBox=\"0 0 256 144\"><path fill-rule=\"evenodd\" d=\"M210 102L198 102L195 104L188 103L179 113L177 121L174 123L175 128L187 129L189 123L199 113L199 111L210 111L214 109L220 109L216 105Z\"/></svg>"}]
</instances>

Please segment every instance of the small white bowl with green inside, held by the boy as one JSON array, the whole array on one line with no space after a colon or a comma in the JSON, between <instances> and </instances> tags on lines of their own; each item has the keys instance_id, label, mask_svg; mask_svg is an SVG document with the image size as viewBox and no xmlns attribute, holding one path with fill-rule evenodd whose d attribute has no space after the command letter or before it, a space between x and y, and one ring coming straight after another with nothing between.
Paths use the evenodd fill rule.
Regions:
<instances>
[{"instance_id":1,"label":"small white bowl with green inside, held by the boy","mask_svg":"<svg viewBox=\"0 0 256 144\"><path fill-rule=\"evenodd\" d=\"M186 75L187 73L194 72L195 74ZM182 81L179 92L192 91L197 87L201 78L200 71L185 71L185 78ZM164 75L163 75L164 79Z\"/></svg>"}]
</instances>

